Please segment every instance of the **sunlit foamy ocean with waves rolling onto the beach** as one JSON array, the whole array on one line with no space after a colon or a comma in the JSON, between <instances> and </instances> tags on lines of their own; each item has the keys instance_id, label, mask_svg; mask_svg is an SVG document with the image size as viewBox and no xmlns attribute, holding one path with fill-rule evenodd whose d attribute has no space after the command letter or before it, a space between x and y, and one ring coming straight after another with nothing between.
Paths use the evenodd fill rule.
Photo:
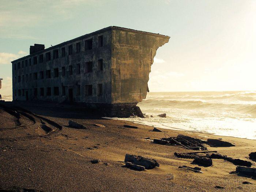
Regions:
<instances>
[{"instance_id":1,"label":"sunlit foamy ocean with waves rolling onto the beach","mask_svg":"<svg viewBox=\"0 0 256 192\"><path fill-rule=\"evenodd\" d=\"M148 93L138 106L146 118L118 119L164 129L256 139L256 91ZM157 117L161 113L167 117Z\"/></svg>"}]
</instances>

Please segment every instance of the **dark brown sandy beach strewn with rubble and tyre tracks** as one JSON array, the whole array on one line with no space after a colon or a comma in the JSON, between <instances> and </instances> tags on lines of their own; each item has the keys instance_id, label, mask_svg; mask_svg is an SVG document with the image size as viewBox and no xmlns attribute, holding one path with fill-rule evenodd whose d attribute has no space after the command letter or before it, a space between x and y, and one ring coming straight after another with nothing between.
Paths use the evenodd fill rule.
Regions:
<instances>
[{"instance_id":1,"label":"dark brown sandy beach strewn with rubble and tyre tracks","mask_svg":"<svg viewBox=\"0 0 256 192\"><path fill-rule=\"evenodd\" d=\"M223 159L212 159L210 167L200 166L203 173L178 168L198 165L192 165L192 159L174 156L174 152L195 151L153 143L152 139L164 137L163 132L150 131L153 127L104 119L86 110L70 110L63 104L5 102L5 105L20 106L36 116L21 114L20 125L13 114L0 106L0 191L256 191L254 177L230 174L236 165ZM68 127L69 120L87 129ZM44 122L60 127L47 129L42 126ZM124 125L135 125L138 129ZM221 138L235 146L206 145L208 150L250 161L255 167L248 157L256 151L256 140L161 130L169 136ZM154 158L160 166L144 171L129 169L124 166L125 154ZM93 164L92 159L100 162ZM243 184L244 181L251 184Z\"/></svg>"}]
</instances>

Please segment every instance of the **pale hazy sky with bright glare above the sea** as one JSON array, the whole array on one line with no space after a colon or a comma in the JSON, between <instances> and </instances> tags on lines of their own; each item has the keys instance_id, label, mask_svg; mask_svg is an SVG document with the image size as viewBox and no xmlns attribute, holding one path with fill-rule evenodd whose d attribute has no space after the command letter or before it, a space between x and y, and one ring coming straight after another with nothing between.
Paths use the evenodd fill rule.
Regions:
<instances>
[{"instance_id":1,"label":"pale hazy sky with bright glare above the sea","mask_svg":"<svg viewBox=\"0 0 256 192\"><path fill-rule=\"evenodd\" d=\"M256 90L256 0L0 0L0 78L10 61L108 26L169 35L152 65L155 91Z\"/></svg>"}]
</instances>

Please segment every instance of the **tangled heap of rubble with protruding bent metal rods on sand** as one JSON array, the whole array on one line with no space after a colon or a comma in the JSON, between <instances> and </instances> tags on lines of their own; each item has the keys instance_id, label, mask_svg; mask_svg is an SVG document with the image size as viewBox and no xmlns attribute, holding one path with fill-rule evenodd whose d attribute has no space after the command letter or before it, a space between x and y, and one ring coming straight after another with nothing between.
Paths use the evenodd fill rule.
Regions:
<instances>
[{"instance_id":1,"label":"tangled heap of rubble with protruding bent metal rods on sand","mask_svg":"<svg viewBox=\"0 0 256 192\"><path fill-rule=\"evenodd\" d=\"M166 145L179 145L191 150L207 150L207 148L203 146L202 143L197 142L195 138L193 139L189 139L189 138L190 137L187 137L187 139L185 139L184 137L178 135L178 137L162 138L161 140L164 140L164 141L161 143L163 144L163 143L166 143L165 141L167 141L168 143L166 143ZM161 144L159 140L156 140L154 143Z\"/></svg>"}]
</instances>

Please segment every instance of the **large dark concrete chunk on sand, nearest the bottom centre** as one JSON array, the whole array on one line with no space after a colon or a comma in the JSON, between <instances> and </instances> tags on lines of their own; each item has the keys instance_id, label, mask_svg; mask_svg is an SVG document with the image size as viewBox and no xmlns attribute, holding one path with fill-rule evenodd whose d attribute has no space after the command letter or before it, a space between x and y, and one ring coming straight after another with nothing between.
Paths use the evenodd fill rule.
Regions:
<instances>
[{"instance_id":1,"label":"large dark concrete chunk on sand, nearest the bottom centre","mask_svg":"<svg viewBox=\"0 0 256 192\"><path fill-rule=\"evenodd\" d=\"M153 169L156 166L159 167L159 163L155 159L142 157L142 156L126 154L124 161L131 162L136 165L144 166L145 169Z\"/></svg>"}]
</instances>

